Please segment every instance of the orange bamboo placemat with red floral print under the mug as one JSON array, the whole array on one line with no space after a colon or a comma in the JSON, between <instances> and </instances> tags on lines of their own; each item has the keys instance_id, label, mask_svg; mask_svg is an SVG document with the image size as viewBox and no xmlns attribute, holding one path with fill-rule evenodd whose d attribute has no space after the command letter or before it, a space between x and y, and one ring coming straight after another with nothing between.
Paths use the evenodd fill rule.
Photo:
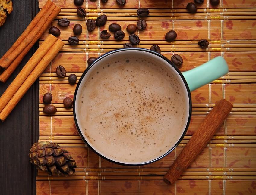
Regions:
<instances>
[{"instance_id":1,"label":"orange bamboo placemat with red floral print under the mug","mask_svg":"<svg viewBox=\"0 0 256 195\"><path fill-rule=\"evenodd\" d=\"M209 0L198 6L198 12L189 14L185 7L192 0L126 0L122 9L115 0L85 0L87 16L79 18L73 0L52 0L62 8L52 26L61 29L60 39L66 45L49 64L39 78L39 140L58 143L67 149L77 162L76 175L51 177L38 172L36 190L38 195L54 194L256 194L256 1L220 0L212 7ZM46 0L39 0L39 7ZM192 118L188 132L179 146L168 156L155 163L141 167L120 166L108 162L83 143L73 119L73 109L65 109L62 101L74 96L76 85L68 84L68 75L77 78L87 67L89 57L99 57L128 42L125 30L136 23L137 8L149 8L147 28L137 32L141 42L138 47L150 48L157 44L162 55L171 58L174 53L183 57L181 71L190 70L208 60L223 56L229 73L191 93ZM93 32L86 30L86 20L106 14L104 27ZM67 17L70 26L58 26L57 19ZM101 40L99 33L111 23L119 23L125 32L122 41ZM83 33L78 36L80 44L69 45L73 26L80 23ZM164 40L167 31L174 29L178 36L171 43ZM39 43L48 35L48 30ZM208 39L210 45L201 49L199 39ZM67 76L59 79L56 67L62 65ZM57 107L53 116L43 113L42 97L46 92L53 95ZM163 175L179 155L198 125L221 98L234 103L232 112L206 148L182 174L175 185L163 182Z\"/></svg>"}]
</instances>

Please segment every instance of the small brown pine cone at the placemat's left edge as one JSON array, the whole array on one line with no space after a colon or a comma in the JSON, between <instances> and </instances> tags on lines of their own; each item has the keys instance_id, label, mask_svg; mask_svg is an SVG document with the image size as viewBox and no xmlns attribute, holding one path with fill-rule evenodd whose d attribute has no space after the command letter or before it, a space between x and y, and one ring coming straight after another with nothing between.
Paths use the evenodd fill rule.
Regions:
<instances>
[{"instance_id":1,"label":"small brown pine cone at the placemat's left edge","mask_svg":"<svg viewBox=\"0 0 256 195\"><path fill-rule=\"evenodd\" d=\"M50 175L72 175L76 162L67 150L58 148L58 144L48 141L35 143L29 151L30 162Z\"/></svg>"}]
</instances>

